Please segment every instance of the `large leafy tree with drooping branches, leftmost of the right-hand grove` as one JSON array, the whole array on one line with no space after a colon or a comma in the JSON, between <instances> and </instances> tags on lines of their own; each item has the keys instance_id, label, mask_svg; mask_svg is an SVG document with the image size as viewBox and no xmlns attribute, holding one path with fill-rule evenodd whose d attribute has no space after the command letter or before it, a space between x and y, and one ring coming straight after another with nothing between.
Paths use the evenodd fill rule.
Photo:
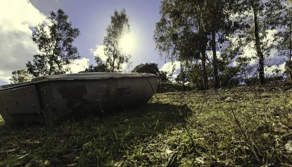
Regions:
<instances>
[{"instance_id":1,"label":"large leafy tree with drooping branches, leftmost of the right-hand grove","mask_svg":"<svg viewBox=\"0 0 292 167\"><path fill-rule=\"evenodd\" d=\"M154 40L160 56L173 61L184 62L186 66L201 59L203 87L208 89L206 72L206 47L208 43L205 17L205 4L195 0L163 0L156 23Z\"/></svg>"}]
</instances>

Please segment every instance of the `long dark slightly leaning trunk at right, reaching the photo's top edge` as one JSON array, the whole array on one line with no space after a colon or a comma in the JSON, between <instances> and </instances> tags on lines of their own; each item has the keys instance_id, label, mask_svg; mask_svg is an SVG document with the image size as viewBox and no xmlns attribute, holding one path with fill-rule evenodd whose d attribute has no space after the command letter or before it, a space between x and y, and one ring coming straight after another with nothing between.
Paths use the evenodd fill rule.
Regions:
<instances>
[{"instance_id":1,"label":"long dark slightly leaning trunk at right, reaching the photo's top edge","mask_svg":"<svg viewBox=\"0 0 292 167\"><path fill-rule=\"evenodd\" d=\"M254 10L254 27L255 27L255 41L256 41L256 55L259 60L259 67L258 67L258 73L259 73L259 82L261 85L265 84L265 72L264 72L264 56L260 48L260 39L258 36L258 20L257 20L257 9L258 9L258 1L255 0L253 4L253 10Z\"/></svg>"}]
</instances>

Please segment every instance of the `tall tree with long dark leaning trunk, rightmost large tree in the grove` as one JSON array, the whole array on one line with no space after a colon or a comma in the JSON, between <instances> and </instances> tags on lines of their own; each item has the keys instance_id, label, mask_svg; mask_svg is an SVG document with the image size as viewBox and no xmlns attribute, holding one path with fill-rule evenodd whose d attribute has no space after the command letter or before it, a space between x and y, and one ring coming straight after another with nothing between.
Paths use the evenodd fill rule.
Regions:
<instances>
[{"instance_id":1,"label":"tall tree with long dark leaning trunk, rightmost large tree in the grove","mask_svg":"<svg viewBox=\"0 0 292 167\"><path fill-rule=\"evenodd\" d=\"M275 29L279 24L283 9L283 0L237 0L234 14L237 19L245 22L246 26L241 29L242 43L256 51L258 59L258 77L261 85L265 84L264 60L269 55L269 41L264 42L267 31ZM252 12L252 15L247 15ZM264 56L265 55L265 56Z\"/></svg>"}]
</instances>

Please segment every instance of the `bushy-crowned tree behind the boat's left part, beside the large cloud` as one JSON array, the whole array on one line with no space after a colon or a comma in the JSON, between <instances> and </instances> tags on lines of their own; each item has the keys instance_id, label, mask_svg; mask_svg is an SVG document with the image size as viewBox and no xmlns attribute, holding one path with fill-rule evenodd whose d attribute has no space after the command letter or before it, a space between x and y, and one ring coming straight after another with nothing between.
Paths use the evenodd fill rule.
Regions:
<instances>
[{"instance_id":1,"label":"bushy-crowned tree behind the boat's left part, beside the large cloud","mask_svg":"<svg viewBox=\"0 0 292 167\"><path fill-rule=\"evenodd\" d=\"M71 61L80 58L77 48L72 44L80 31L72 28L69 16L59 9L57 12L50 12L47 19L50 25L38 24L32 37L43 54L35 55L33 63L28 61L26 64L29 74L35 77L65 74L70 70L68 65Z\"/></svg>"}]
</instances>

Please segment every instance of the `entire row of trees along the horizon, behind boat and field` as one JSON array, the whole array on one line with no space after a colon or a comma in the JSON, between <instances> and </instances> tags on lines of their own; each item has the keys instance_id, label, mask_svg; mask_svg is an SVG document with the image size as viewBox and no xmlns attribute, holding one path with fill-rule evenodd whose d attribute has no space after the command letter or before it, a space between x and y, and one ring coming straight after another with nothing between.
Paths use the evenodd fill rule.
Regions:
<instances>
[{"instance_id":1,"label":"entire row of trees along the horizon, behind boat and field","mask_svg":"<svg viewBox=\"0 0 292 167\"><path fill-rule=\"evenodd\" d=\"M291 80L291 11L291 0L163 0L153 39L161 58L181 63L176 81L197 89L263 85L268 77L265 67L283 63L285 71L273 73ZM120 38L130 31L126 10L115 10L110 17L103 40L106 61L96 56L96 65L80 73L121 72L122 65L130 63L131 56L119 46ZM48 20L51 24L38 24L32 36L42 54L28 61L27 70L14 71L12 83L27 81L28 75L65 74L72 61L80 58L72 44L80 31L72 28L64 11L50 12ZM270 61L273 52L281 58ZM140 64L131 72L169 79L156 63Z\"/></svg>"}]
</instances>

